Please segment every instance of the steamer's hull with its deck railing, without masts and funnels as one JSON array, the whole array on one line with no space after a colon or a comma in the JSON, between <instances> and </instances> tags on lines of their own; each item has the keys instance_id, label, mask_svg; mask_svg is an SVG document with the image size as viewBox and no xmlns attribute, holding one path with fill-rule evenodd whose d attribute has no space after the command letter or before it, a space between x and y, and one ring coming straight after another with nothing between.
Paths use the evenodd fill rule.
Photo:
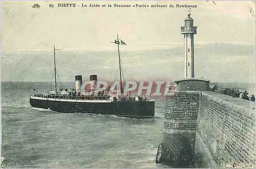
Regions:
<instances>
[{"instance_id":1,"label":"steamer's hull with its deck railing, without masts and funnels","mask_svg":"<svg viewBox=\"0 0 256 169\"><path fill-rule=\"evenodd\" d=\"M91 100L88 99L90 97ZM154 117L154 100L140 99L138 101L138 97L135 100L135 98L130 97L129 99L127 96L125 98L120 97L118 101L113 96L35 94L30 96L30 105L63 113L113 114L134 118Z\"/></svg>"}]
</instances>

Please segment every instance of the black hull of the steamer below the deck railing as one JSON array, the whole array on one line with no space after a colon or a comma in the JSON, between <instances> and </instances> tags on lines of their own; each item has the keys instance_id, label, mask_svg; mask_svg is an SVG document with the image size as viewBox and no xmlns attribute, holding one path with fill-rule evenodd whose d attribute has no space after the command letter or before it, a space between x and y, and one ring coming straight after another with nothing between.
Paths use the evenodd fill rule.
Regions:
<instances>
[{"instance_id":1,"label":"black hull of the steamer below the deck railing","mask_svg":"<svg viewBox=\"0 0 256 169\"><path fill-rule=\"evenodd\" d=\"M30 97L30 105L62 113L111 114L132 118L153 118L155 116L155 101L79 102Z\"/></svg>"}]
</instances>

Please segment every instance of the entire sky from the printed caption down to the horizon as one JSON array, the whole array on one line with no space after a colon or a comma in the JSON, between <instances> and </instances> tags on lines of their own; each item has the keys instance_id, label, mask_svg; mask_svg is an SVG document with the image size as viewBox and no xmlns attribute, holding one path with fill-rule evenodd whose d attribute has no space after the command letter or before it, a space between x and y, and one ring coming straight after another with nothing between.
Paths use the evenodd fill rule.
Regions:
<instances>
[{"instance_id":1,"label":"entire sky from the printed caption down to the horizon","mask_svg":"<svg viewBox=\"0 0 256 169\"><path fill-rule=\"evenodd\" d=\"M212 82L255 82L255 4L220 2L2 2L1 80L51 81L53 44L60 81L114 80L118 70L117 34L127 80L177 80L184 76L180 27L187 8L82 8L82 4L197 5L191 9L195 76ZM40 8L32 8L38 4ZM54 7L50 8L49 5Z\"/></svg>"}]
</instances>

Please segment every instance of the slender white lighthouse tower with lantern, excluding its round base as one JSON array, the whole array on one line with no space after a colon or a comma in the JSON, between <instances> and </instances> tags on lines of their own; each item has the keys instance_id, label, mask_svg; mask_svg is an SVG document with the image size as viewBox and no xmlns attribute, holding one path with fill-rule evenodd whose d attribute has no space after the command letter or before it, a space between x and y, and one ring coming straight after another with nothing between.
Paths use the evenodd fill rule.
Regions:
<instances>
[{"instance_id":1,"label":"slender white lighthouse tower with lantern, excluding its round base","mask_svg":"<svg viewBox=\"0 0 256 169\"><path fill-rule=\"evenodd\" d=\"M181 34L184 35L184 77L195 77L194 62L194 34L197 34L197 27L193 26L194 20L190 17L190 13L185 18L185 26L181 27Z\"/></svg>"}]
</instances>

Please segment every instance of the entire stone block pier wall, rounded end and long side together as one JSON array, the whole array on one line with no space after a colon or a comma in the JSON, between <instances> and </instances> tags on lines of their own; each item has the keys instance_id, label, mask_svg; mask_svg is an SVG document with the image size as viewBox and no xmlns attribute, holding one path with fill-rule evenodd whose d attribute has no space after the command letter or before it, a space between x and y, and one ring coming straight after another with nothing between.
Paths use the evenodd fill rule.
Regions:
<instances>
[{"instance_id":1,"label":"entire stone block pier wall, rounded end and long side together","mask_svg":"<svg viewBox=\"0 0 256 169\"><path fill-rule=\"evenodd\" d=\"M172 167L255 167L255 104L217 92L165 101L162 157Z\"/></svg>"}]
</instances>

